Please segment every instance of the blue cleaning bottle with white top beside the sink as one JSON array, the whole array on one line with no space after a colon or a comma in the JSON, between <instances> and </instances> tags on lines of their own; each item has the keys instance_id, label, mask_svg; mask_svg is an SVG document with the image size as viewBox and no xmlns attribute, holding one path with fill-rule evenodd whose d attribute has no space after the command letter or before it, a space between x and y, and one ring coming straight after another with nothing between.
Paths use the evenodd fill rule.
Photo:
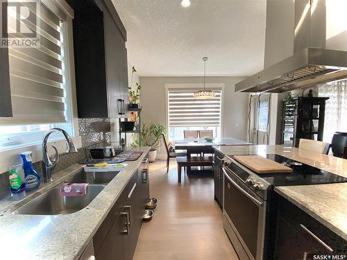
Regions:
<instances>
[{"instance_id":1,"label":"blue cleaning bottle with white top beside the sink","mask_svg":"<svg viewBox=\"0 0 347 260\"><path fill-rule=\"evenodd\" d=\"M40 175L33 167L33 152L21 153L26 182L26 191L33 191L40 186Z\"/></svg>"}]
</instances>

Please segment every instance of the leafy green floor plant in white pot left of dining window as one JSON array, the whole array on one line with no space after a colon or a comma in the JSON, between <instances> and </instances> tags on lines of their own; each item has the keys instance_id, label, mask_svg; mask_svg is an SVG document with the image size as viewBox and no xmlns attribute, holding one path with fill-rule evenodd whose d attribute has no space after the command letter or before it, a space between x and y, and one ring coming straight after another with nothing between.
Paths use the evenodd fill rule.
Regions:
<instances>
[{"instance_id":1,"label":"leafy green floor plant in white pot left of dining window","mask_svg":"<svg viewBox=\"0 0 347 260\"><path fill-rule=\"evenodd\" d=\"M162 133L165 132L164 125L158 123L150 123L149 126L143 124L142 126L142 144L144 146L151 146L149 150L149 162L154 162L157 157L157 150L160 148L162 142Z\"/></svg>"}]
</instances>

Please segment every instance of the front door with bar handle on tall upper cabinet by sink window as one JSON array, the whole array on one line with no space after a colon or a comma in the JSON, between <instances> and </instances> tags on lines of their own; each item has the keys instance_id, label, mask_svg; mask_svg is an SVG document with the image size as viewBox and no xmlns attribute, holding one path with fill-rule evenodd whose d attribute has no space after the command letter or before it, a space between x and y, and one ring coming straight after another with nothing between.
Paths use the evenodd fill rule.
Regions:
<instances>
[{"instance_id":1,"label":"front door with bar handle on tall upper cabinet by sink window","mask_svg":"<svg viewBox=\"0 0 347 260\"><path fill-rule=\"evenodd\" d=\"M119 117L122 114L123 105L119 105L121 96L120 71L124 40L113 20L110 12L103 10L105 19L105 58L108 92L108 116Z\"/></svg>"}]
</instances>

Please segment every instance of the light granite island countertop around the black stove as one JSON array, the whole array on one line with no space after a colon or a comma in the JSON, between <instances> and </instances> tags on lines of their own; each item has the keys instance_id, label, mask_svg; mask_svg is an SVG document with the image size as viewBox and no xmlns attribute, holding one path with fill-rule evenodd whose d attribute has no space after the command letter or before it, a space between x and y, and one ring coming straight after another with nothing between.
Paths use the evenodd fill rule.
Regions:
<instances>
[{"instance_id":1,"label":"light granite island countertop around the black stove","mask_svg":"<svg viewBox=\"0 0 347 260\"><path fill-rule=\"evenodd\" d=\"M347 177L347 159L285 146L214 146L224 155L278 154ZM281 196L347 240L347 183L275 187Z\"/></svg>"}]
</instances>

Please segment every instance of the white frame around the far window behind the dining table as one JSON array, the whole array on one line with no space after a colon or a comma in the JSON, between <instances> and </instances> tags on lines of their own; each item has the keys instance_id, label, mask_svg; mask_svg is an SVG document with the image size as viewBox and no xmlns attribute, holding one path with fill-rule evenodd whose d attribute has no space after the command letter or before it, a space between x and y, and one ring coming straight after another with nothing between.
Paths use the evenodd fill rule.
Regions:
<instances>
[{"instance_id":1,"label":"white frame around the far window behind the dining table","mask_svg":"<svg viewBox=\"0 0 347 260\"><path fill-rule=\"evenodd\" d=\"M223 114L224 114L224 83L206 83L206 89L221 89L221 122L219 125L219 136L223 137ZM176 83L176 84L165 84L165 128L167 134L169 134L169 89L202 89L203 83ZM217 135L218 136L218 135Z\"/></svg>"}]
</instances>

